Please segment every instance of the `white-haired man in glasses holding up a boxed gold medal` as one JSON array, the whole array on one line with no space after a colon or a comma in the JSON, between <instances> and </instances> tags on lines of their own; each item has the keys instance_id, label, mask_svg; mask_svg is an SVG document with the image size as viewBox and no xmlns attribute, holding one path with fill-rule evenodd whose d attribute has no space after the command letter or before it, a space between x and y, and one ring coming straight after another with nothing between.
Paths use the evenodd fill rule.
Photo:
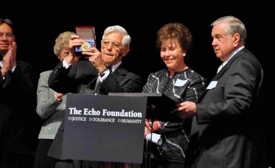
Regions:
<instances>
[{"instance_id":1,"label":"white-haired man in glasses holding up a boxed gold medal","mask_svg":"<svg viewBox=\"0 0 275 168\"><path fill-rule=\"evenodd\" d=\"M130 36L121 26L110 26L105 29L101 40L101 52L97 48L90 48L93 52L82 52L89 61L78 61L71 67L75 58L75 47L85 43L78 36L71 36L69 42L70 54L58 64L49 77L49 87L58 93L79 93L99 73L103 72L113 61L111 69L107 69L84 89L84 94L104 94L110 92L139 92L141 78L124 68L121 60L129 52ZM120 56L121 55L121 56ZM57 100L61 101L59 97ZM85 167L88 162L66 160L61 161L64 122L60 125L48 156L59 159L56 167ZM88 165L87 165L88 166Z\"/></svg>"}]
</instances>

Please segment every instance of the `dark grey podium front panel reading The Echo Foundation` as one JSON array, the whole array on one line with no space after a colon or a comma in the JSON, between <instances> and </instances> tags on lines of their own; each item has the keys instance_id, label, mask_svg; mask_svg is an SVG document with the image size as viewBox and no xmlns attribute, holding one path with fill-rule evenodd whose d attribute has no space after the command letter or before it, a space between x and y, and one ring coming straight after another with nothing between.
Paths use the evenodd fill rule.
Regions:
<instances>
[{"instance_id":1,"label":"dark grey podium front panel reading The Echo Foundation","mask_svg":"<svg viewBox=\"0 0 275 168\"><path fill-rule=\"evenodd\" d=\"M62 159L142 163L146 101L68 94Z\"/></svg>"}]
</instances>

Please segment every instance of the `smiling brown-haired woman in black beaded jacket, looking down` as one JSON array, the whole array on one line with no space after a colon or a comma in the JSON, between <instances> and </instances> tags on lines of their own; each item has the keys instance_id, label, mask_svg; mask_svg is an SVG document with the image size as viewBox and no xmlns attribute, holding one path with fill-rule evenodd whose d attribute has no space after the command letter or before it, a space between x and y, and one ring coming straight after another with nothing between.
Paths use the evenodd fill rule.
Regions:
<instances>
[{"instance_id":1,"label":"smiling brown-haired woman in black beaded jacket, looking down","mask_svg":"<svg viewBox=\"0 0 275 168\"><path fill-rule=\"evenodd\" d=\"M197 102L206 80L190 69L184 61L192 50L193 38L189 29L180 23L169 23L157 32L157 48L166 69L151 73L143 88L144 93L163 93L178 103ZM162 144L152 146L151 167L183 167L189 142L192 118L180 122L155 121L153 128L146 121L147 130L160 134Z\"/></svg>"}]
</instances>

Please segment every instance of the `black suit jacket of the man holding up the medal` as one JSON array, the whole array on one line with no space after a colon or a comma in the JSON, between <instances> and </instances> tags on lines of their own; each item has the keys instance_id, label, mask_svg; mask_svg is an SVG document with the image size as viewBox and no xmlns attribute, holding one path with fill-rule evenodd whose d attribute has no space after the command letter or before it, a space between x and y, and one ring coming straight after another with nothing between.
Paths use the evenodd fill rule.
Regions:
<instances>
[{"instance_id":1,"label":"black suit jacket of the man holding up the medal","mask_svg":"<svg viewBox=\"0 0 275 168\"><path fill-rule=\"evenodd\" d=\"M49 87L59 93L78 93L98 75L97 69L89 61L79 61L74 67L65 69L60 62L49 77ZM108 75L100 84L99 93L109 92L139 92L142 86L141 78L124 68L123 64ZM95 82L82 93L93 94ZM61 160L64 121L58 128L48 156Z\"/></svg>"}]
</instances>

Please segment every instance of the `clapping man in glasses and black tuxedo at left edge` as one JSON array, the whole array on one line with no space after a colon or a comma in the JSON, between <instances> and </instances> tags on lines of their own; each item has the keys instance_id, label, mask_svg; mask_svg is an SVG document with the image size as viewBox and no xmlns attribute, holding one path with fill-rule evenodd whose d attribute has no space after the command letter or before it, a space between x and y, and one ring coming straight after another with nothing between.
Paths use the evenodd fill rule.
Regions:
<instances>
[{"instance_id":1,"label":"clapping man in glasses and black tuxedo at left edge","mask_svg":"<svg viewBox=\"0 0 275 168\"><path fill-rule=\"evenodd\" d=\"M34 97L32 65L16 60L12 21L0 19L0 167L28 167L25 102ZM3 59L3 60L2 60Z\"/></svg>"}]
</instances>

